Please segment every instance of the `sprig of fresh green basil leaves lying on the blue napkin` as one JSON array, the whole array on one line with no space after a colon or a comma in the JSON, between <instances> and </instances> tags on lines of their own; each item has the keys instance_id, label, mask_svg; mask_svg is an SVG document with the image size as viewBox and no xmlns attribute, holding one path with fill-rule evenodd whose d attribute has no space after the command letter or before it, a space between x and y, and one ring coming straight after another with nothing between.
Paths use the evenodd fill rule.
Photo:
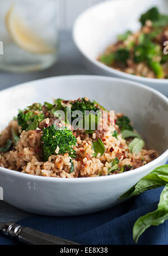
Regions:
<instances>
[{"instance_id":1,"label":"sprig of fresh green basil leaves lying on the blue napkin","mask_svg":"<svg viewBox=\"0 0 168 256\"><path fill-rule=\"evenodd\" d=\"M166 185L160 196L158 208L147 213L136 221L133 227L133 239L137 243L142 233L152 225L160 225L168 218L168 165L162 165L138 181L136 185L125 192L119 199L137 196L146 190Z\"/></svg>"}]
</instances>

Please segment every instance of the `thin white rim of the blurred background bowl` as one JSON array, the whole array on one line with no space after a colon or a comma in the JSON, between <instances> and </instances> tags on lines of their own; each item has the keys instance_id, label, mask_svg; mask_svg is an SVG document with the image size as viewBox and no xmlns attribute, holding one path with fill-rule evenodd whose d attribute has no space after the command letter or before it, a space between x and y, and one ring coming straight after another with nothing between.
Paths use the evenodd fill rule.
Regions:
<instances>
[{"instance_id":1,"label":"thin white rim of the blurred background bowl","mask_svg":"<svg viewBox=\"0 0 168 256\"><path fill-rule=\"evenodd\" d=\"M110 72L111 75L118 75L122 78L127 78L127 79L131 79L131 80L136 80L138 82L151 82L151 83L162 83L162 84L167 84L167 87L168 87L168 79L159 79L159 78L150 78L150 77L141 77L141 76L136 76L136 75L131 75L131 74L128 74L128 73L125 73L123 71L119 71L115 68L111 68L111 67L108 67L106 66L105 64L99 62L99 60L95 59L95 58L92 58L92 57L89 57L85 51L83 51L81 48L80 48L80 44L78 44L78 41L77 41L77 38L76 38L76 27L78 25L78 23L80 22L81 18L83 16L85 16L88 12L96 9L98 6L102 6L104 4L108 4L109 2L110 3L115 3L117 0L109 0L109 1L105 1L105 2L102 2L102 3L98 3L98 4L95 4L94 6L90 7L90 8L87 8L87 10L85 10L84 12L82 12L75 20L74 22L74 25L73 25L73 29L72 29L72 38L73 38L73 41L74 41L74 44L76 45L77 49L82 53L82 55L87 59L89 60L90 62L92 62L93 64L95 64L95 66L99 67L99 68L102 68L104 69L105 71L107 72ZM128 1L128 0L127 0ZM129 0L129 1L132 1L132 0ZM123 0L120 0L120 2L125 2Z\"/></svg>"}]
</instances>

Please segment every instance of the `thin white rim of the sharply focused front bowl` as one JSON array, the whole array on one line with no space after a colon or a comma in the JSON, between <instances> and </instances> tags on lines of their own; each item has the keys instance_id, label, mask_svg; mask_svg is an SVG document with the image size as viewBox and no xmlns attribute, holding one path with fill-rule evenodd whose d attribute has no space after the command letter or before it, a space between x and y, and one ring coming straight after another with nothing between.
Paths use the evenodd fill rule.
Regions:
<instances>
[{"instance_id":1,"label":"thin white rim of the sharply focused front bowl","mask_svg":"<svg viewBox=\"0 0 168 256\"><path fill-rule=\"evenodd\" d=\"M7 89L4 89L4 90L1 90L0 91L0 94L1 92L4 92L4 91L10 91L11 89L13 88L19 88L21 86L26 86L26 85L29 85L30 83L36 83L36 82L40 82L40 81L49 81L49 80L53 80L53 79L74 79L74 78L77 78L77 79L82 79L82 78L86 78L88 80L90 79L96 79L96 80L99 80L99 79L103 79L103 80L106 80L106 81L111 81L113 80L114 82L115 81L118 81L118 82L127 82L127 83L130 83L132 85L134 85L135 87L141 87L142 89L144 90L147 90L147 91L151 91L153 92L155 95L158 95L162 100L164 100L166 102L166 104L168 105L168 98L161 94L161 92L158 92L157 90L155 89L152 89L151 87L148 87L146 85L143 85L142 83L138 83L138 82L134 82L134 81L129 81L129 80L124 80L124 79L121 79L121 78L115 78L115 77L106 77L106 76L92 76L92 75L68 75L68 76L55 76L55 77L48 77L48 78L42 78L42 79L38 79L38 80L32 80L32 81L29 81L29 82L25 82L25 83L21 83L20 85L16 85L16 86L12 86L10 88L7 88ZM107 176L99 176L99 177L84 177L84 178L57 178L57 177L45 177L45 176L36 176L36 175L31 175L31 174L25 174L25 173L20 173L20 171L15 171L15 170L10 170L10 169L6 169L4 167L0 167L0 173L4 173L4 174L9 174L11 176L16 176L18 178L22 178L22 179L30 179L30 180L43 180L43 181L51 181L51 182L63 182L63 183L85 183L86 181L87 182L94 182L94 181L101 181L101 180L104 180L104 179L120 179L120 178L124 178L125 175L129 175L129 176L132 176L134 175L135 173L141 173L142 170L147 170L149 169L150 167L152 167L152 165L155 165L157 164L157 162L160 162L164 159L166 159L166 157L168 158L168 149L162 153L160 156L157 157L157 159L149 162L148 164L146 165L143 165L141 167L138 167L137 169L134 169L134 170L130 170L130 171L126 171L124 173L119 173L119 174L115 174L115 175L107 175ZM0 178L1 179L1 178Z\"/></svg>"}]
</instances>

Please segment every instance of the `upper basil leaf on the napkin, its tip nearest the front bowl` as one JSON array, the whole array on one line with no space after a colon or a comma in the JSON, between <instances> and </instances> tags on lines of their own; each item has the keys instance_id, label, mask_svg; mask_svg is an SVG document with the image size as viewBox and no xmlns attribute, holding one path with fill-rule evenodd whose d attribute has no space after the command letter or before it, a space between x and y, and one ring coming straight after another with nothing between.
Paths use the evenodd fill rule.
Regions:
<instances>
[{"instance_id":1,"label":"upper basil leaf on the napkin, its tip nearest the front bowl","mask_svg":"<svg viewBox=\"0 0 168 256\"><path fill-rule=\"evenodd\" d=\"M119 199L138 196L146 190L159 188L168 183L168 165L162 165L151 171L138 181L136 185L125 192Z\"/></svg>"}]
</instances>

